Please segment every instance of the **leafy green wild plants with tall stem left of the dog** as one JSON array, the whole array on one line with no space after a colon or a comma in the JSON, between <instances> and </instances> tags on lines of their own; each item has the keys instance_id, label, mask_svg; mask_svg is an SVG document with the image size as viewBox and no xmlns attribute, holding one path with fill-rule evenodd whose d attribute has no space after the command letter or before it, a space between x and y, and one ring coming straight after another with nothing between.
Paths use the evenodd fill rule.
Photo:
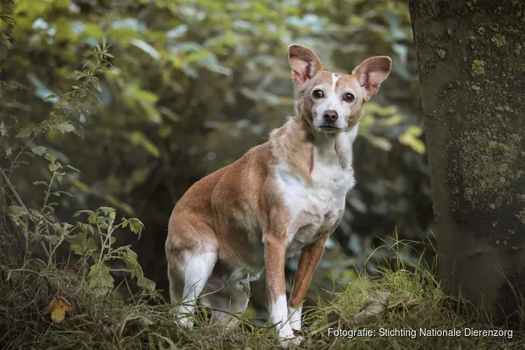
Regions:
<instances>
[{"instance_id":1,"label":"leafy green wild plants with tall stem left of the dog","mask_svg":"<svg viewBox=\"0 0 525 350\"><path fill-rule=\"evenodd\" d=\"M103 294L109 293L114 287L113 277L110 274L113 269L109 264L112 260L123 260L127 266L124 271L129 272L132 277L137 277L139 287L149 289L155 287L152 281L144 277L144 273L137 263L137 254L132 251L130 246L116 247L113 245L116 242L113 234L119 228L129 226L132 232L140 235L144 225L136 218L122 218L122 221L117 224L116 210L110 207L100 207L97 211L81 210L74 215L88 214L88 223L78 222L73 225L66 221L58 221L55 216L55 208L58 203L50 201L62 196L72 197L73 195L64 190L52 190L54 182L62 184L64 179L71 177L68 171L78 172L78 169L71 167L71 165L62 165L57 161L57 155L49 152L43 146L31 146L30 152L26 150L33 139L43 134L55 131L81 134L78 118L73 117L72 114L73 112L82 113L85 111L85 101L92 94L92 87L99 90L99 80L95 74L107 69L108 62L106 59L111 57L106 41L103 39L101 45L97 44L94 50L87 52L87 62L80 71L76 71L78 85L73 85L71 92L45 97L45 99L59 99L49 118L42 120L41 123L33 127L20 127L20 125L6 127L3 124L5 136L14 131L15 138L27 137L29 141L24 146L16 142L13 143L13 146L8 148L10 154L7 155L6 152L6 157L10 160L9 171L6 174L0 170L3 181L6 183L3 191L11 193L18 200L18 205L11 204L8 207L8 214L25 237L25 264L29 261L35 244L40 244L48 258L47 267L56 265L59 262L56 259L57 249L62 243L69 242L71 251L79 255L80 261L87 263L88 259L92 260L87 276L89 286L97 293ZM20 160L20 156L28 154L42 157L48 161L50 181L35 181L33 183L34 186L44 186L45 188L41 209L27 207L22 202L15 187L10 183L13 171L20 165L27 165ZM95 243L94 238L100 239L101 244L99 246Z\"/></svg>"}]
</instances>

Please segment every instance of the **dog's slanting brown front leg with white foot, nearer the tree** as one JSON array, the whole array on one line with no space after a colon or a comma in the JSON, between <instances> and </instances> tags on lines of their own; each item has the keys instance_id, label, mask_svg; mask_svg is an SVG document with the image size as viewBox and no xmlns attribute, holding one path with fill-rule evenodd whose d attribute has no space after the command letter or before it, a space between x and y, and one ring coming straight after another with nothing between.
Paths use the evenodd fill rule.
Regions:
<instances>
[{"instance_id":1,"label":"dog's slanting brown front leg with white foot, nearer the tree","mask_svg":"<svg viewBox=\"0 0 525 350\"><path fill-rule=\"evenodd\" d=\"M288 318L290 319L290 325L293 330L301 330L302 301L304 300L304 295L306 295L308 291L311 277L314 275L314 271L323 256L325 242L328 237L332 235L332 232L337 228L340 221L341 219L339 218L333 228L321 233L314 243L302 248L299 264L297 265L297 272L293 279L292 293L290 294L290 300L288 302Z\"/></svg>"}]
</instances>

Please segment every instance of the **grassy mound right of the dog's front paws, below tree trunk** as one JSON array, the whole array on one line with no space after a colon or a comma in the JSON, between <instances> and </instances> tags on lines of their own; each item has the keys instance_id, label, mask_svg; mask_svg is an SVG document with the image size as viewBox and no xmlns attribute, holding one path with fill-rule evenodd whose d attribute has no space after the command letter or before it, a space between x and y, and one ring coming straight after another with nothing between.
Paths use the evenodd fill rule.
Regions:
<instances>
[{"instance_id":1,"label":"grassy mound right of the dog's front paws, below tree trunk","mask_svg":"<svg viewBox=\"0 0 525 350\"><path fill-rule=\"evenodd\" d=\"M412 248L413 241L395 241L393 263L378 268L377 276L360 276L334 300L310 310L304 349L525 349L523 328L505 329L491 323L461 295L445 295L435 277L437 256L432 265L402 260L399 247ZM432 245L429 245L433 248ZM363 279L366 283L359 283ZM374 323L352 326L351 318L371 295L388 293L384 316ZM373 311L373 310L372 310ZM332 321L333 315L338 317ZM524 311L521 310L521 314ZM332 319L330 319L332 318ZM330 322L332 321L332 322ZM331 328L331 332L329 331ZM467 330L465 332L465 329ZM335 330L368 330L372 335L335 336ZM468 332L470 330L470 335ZM472 336L472 330L503 331L502 336ZM440 335L439 332L459 332ZM433 333L434 332L434 333ZM437 334L436 334L437 333ZM369 333L370 334L370 333ZM432 335L436 334L436 335ZM443 332L441 333L443 334Z\"/></svg>"}]
</instances>

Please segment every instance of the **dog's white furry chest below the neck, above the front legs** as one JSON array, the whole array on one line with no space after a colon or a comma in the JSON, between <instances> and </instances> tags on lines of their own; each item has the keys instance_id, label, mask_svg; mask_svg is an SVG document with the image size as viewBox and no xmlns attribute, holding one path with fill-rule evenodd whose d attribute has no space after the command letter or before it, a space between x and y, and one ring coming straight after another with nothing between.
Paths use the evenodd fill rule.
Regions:
<instances>
[{"instance_id":1,"label":"dog's white furry chest below the neck, above the front legs","mask_svg":"<svg viewBox=\"0 0 525 350\"><path fill-rule=\"evenodd\" d=\"M290 213L287 256L333 228L343 214L346 193L355 182L353 170L341 165L317 163L311 177L313 185L291 175L284 164L277 169L277 182Z\"/></svg>"}]
</instances>

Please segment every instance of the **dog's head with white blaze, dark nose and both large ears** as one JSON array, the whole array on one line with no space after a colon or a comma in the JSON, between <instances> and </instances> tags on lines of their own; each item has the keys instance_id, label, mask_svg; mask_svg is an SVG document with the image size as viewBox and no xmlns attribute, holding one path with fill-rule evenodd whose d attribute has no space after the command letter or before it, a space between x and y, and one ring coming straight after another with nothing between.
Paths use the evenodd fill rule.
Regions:
<instances>
[{"instance_id":1,"label":"dog's head with white blaze, dark nose and both large ears","mask_svg":"<svg viewBox=\"0 0 525 350\"><path fill-rule=\"evenodd\" d=\"M301 97L297 112L311 127L326 133L351 130L363 115L363 104L379 91L390 73L392 60L387 56L366 59L351 74L323 71L314 51L293 44L288 46L292 79Z\"/></svg>"}]
</instances>

